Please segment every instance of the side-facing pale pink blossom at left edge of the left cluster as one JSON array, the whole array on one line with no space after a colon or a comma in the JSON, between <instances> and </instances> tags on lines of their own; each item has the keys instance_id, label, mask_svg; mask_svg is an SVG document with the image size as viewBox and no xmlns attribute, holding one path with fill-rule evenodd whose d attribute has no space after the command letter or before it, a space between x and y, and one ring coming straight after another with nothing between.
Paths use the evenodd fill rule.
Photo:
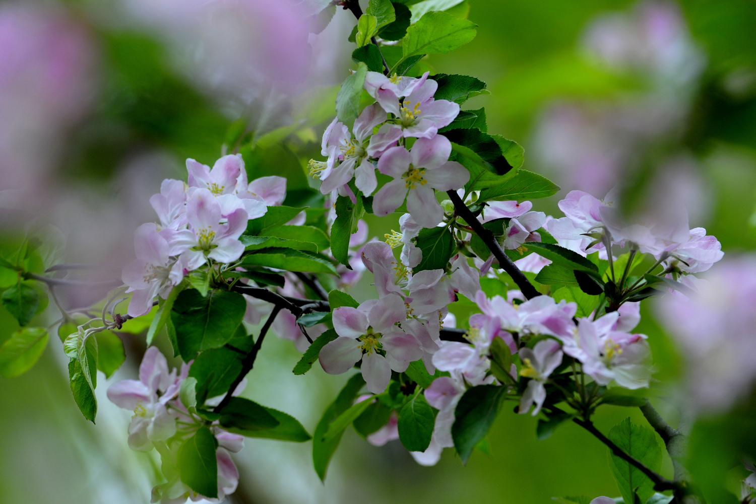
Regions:
<instances>
[{"instance_id":1,"label":"side-facing pale pink blossom at left edge of the left cluster","mask_svg":"<svg viewBox=\"0 0 756 504\"><path fill-rule=\"evenodd\" d=\"M168 296L173 286L184 279L181 262L171 258L171 246L160 235L155 224L142 224L134 233L137 258L126 264L121 279L133 292L129 301L129 315L139 317L152 308L156 295Z\"/></svg>"}]
</instances>

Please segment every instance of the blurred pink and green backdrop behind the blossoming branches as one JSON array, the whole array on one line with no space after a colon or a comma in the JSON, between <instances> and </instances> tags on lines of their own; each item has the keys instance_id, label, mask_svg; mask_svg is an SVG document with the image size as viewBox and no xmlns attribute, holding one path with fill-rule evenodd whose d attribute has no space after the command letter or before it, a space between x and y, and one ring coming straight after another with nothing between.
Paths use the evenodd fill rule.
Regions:
<instances>
[{"instance_id":1,"label":"blurred pink and green backdrop behind the blossoming branches","mask_svg":"<svg viewBox=\"0 0 756 504\"><path fill-rule=\"evenodd\" d=\"M466 108L485 107L488 130L525 147L524 168L565 187L534 209L554 214L567 190L602 197L617 187L628 212L684 206L691 227L706 227L727 254L756 247L753 2L464 3L479 24L476 39L422 64L488 82L491 94ZM283 0L0 2L2 233L53 224L64 259L117 275L132 257L133 230L153 220L147 199L160 180L181 178L187 157L212 165L240 118L258 145L246 153L250 169L285 173L291 195L313 195L305 165L318 156L334 86L352 64L346 39L355 20L339 9L308 35L310 14L306 3ZM371 237L398 229L391 218L367 224ZM371 282L368 272L355 298L373 297ZM0 342L16 329L0 308ZM682 379L674 340L652 309L638 330L649 335L655 377L674 390ZM121 334L122 369L107 382L101 376L97 425L76 409L55 338L29 373L0 379L0 502L149 502L158 461L129 450L129 412L104 394L110 382L136 376L144 335L132 331ZM292 342L269 339L244 395L312 431L346 376L317 364L294 376L300 355ZM670 402L654 403L674 425ZM607 431L628 415L644 422L636 409L603 407L596 425ZM476 452L466 467L452 450L420 467L399 441L372 447L350 429L324 484L311 468L311 444L247 440L229 501L618 495L606 447L572 424L537 441L535 423L504 410L489 434L491 453ZM668 458L663 472L671 475ZM733 469L733 491L739 478Z\"/></svg>"}]
</instances>

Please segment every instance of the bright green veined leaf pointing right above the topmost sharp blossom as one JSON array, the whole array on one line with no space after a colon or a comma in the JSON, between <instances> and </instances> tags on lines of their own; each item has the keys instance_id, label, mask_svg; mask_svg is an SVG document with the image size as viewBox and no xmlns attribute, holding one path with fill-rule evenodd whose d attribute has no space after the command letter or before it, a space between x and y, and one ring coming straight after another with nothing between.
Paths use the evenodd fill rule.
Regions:
<instances>
[{"instance_id":1,"label":"bright green veined leaf pointing right above the topmost sharp blossom","mask_svg":"<svg viewBox=\"0 0 756 504\"><path fill-rule=\"evenodd\" d=\"M476 26L475 23L457 19L445 12L426 12L417 23L407 28L402 45L402 60L420 54L446 54L454 51L475 39Z\"/></svg>"}]
</instances>

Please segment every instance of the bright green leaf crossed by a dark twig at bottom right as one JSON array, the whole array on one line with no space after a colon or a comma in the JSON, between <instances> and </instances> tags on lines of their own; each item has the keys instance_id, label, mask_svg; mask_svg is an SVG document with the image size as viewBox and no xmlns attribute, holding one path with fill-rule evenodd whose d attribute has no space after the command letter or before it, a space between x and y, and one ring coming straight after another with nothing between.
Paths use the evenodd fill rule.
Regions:
<instances>
[{"instance_id":1,"label":"bright green leaf crossed by a dark twig at bottom right","mask_svg":"<svg viewBox=\"0 0 756 504\"><path fill-rule=\"evenodd\" d=\"M652 428L635 425L630 418L618 423L606 436L624 453L643 462L652 471L658 471L662 465L662 449L656 441ZM609 451L609 467L617 481L624 502L634 502L634 493L640 502L646 502L654 494L654 484L639 469L615 456Z\"/></svg>"}]
</instances>

